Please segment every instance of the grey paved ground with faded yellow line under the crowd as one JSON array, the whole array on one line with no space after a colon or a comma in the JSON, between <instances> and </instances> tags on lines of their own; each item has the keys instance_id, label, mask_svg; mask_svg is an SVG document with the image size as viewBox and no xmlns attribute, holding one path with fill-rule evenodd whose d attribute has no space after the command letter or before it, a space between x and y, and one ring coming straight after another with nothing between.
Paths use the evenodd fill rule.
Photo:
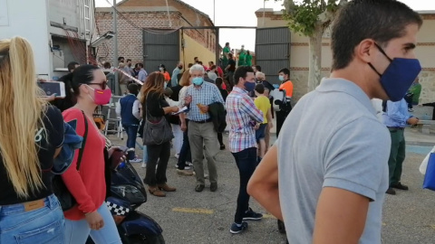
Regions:
<instances>
[{"instance_id":1,"label":"grey paved ground with faded yellow line under the crowd","mask_svg":"<svg viewBox=\"0 0 435 244\"><path fill-rule=\"evenodd\" d=\"M402 182L410 186L409 192L388 195L384 204L382 243L431 244L435 243L435 192L422 190L419 166L424 156L435 145L435 136L425 136L419 143L416 131L407 131L410 144L404 164ZM121 140L114 139L119 143ZM224 137L227 141L227 136ZM172 154L173 155L173 154ZM195 192L195 178L176 174L176 159L171 156L168 183L176 186L166 198L149 194L140 211L149 214L163 228L167 243L285 243L285 236L278 233L276 221L266 215L263 221L249 222L249 230L242 235L231 235L229 226L236 210L238 191L237 167L226 150L218 156L218 192ZM145 169L136 165L141 176ZM254 210L264 212L255 201Z\"/></svg>"}]
</instances>

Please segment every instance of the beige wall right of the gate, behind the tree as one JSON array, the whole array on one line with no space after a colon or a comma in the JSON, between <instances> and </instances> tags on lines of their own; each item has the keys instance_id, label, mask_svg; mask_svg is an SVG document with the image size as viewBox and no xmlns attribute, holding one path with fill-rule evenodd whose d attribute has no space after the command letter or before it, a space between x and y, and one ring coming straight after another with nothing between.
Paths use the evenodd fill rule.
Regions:
<instances>
[{"instance_id":1,"label":"beige wall right of the gate, behind the tree","mask_svg":"<svg viewBox=\"0 0 435 244\"><path fill-rule=\"evenodd\" d=\"M423 25L417 37L417 58L420 60L423 70L420 73L422 92L420 103L435 101L435 14L420 13L423 18ZM256 12L258 28L286 26L282 19L281 12L274 12L266 9L265 18L263 10ZM329 76L332 64L332 52L330 46L330 30L324 33L322 49L322 72L325 77ZM290 76L295 83L295 99L300 99L307 91L309 47L308 38L298 33L291 34L290 52Z\"/></svg>"}]
</instances>

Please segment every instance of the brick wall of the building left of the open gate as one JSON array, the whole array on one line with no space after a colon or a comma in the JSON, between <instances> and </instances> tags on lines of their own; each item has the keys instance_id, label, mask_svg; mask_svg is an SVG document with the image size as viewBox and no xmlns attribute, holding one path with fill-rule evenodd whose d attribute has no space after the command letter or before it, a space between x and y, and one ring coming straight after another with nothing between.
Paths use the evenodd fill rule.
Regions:
<instances>
[{"instance_id":1,"label":"brick wall of the building left of the open gate","mask_svg":"<svg viewBox=\"0 0 435 244\"><path fill-rule=\"evenodd\" d=\"M193 10L178 0L169 0L169 6L178 11L169 11L172 28L181 26L213 26L207 17ZM166 11L159 12L123 12L122 8L131 9L132 7L161 7L166 6L161 0L129 0L118 6L119 11L125 18L118 14L118 53L120 56L131 59L133 63L143 61L142 31L131 25L133 23L141 28L169 28L169 18ZM127 20L130 20L129 23ZM109 8L97 8L95 14L97 30L100 34L113 31L112 13ZM184 34L189 35L202 46L207 47L210 52L215 51L216 36L211 30L184 30ZM99 61L113 61L113 41L109 40L98 48Z\"/></svg>"}]
</instances>

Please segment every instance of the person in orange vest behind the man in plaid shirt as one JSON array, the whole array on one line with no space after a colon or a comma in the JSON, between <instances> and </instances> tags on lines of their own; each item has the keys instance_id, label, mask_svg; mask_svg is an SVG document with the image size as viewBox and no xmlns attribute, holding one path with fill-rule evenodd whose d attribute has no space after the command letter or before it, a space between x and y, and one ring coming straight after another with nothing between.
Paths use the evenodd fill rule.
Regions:
<instances>
[{"instance_id":1,"label":"person in orange vest behind the man in plaid shirt","mask_svg":"<svg viewBox=\"0 0 435 244\"><path fill-rule=\"evenodd\" d=\"M279 131L281 130L281 127L283 127L285 117L287 117L292 110L292 105L290 104L290 101L293 97L293 82L289 79L290 70L286 68L279 70L278 75L279 80L281 81L279 89L285 90L285 102L280 105L281 109L279 111L276 111L276 138L279 136Z\"/></svg>"}]
</instances>

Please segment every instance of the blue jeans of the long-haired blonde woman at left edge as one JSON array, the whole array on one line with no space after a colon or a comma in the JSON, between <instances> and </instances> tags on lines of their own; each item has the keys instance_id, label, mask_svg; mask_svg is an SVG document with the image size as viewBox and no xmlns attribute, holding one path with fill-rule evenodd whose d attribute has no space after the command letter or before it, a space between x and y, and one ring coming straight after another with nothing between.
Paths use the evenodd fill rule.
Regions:
<instances>
[{"instance_id":1,"label":"blue jeans of the long-haired blonde woman at left edge","mask_svg":"<svg viewBox=\"0 0 435 244\"><path fill-rule=\"evenodd\" d=\"M54 195L43 200L43 207L25 211L24 204L0 206L0 243L63 243L65 221Z\"/></svg>"}]
</instances>

